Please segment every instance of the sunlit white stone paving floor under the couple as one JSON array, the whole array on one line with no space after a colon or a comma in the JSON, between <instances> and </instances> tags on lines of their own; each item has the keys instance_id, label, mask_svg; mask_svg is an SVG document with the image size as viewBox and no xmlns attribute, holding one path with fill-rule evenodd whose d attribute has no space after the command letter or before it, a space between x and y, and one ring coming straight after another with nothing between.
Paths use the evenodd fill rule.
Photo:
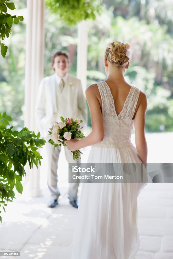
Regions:
<instances>
[{"instance_id":1,"label":"sunlit white stone paving floor under the couple","mask_svg":"<svg viewBox=\"0 0 173 259\"><path fill-rule=\"evenodd\" d=\"M148 162L172 162L173 133L147 134L147 141ZM29 185L24 183L23 194L2 213L0 251L20 251L21 259L70 259L77 209L67 198L68 174L64 172L68 165L63 152L59 161L59 170L63 172L59 174L62 196L55 208L47 207L49 191L43 168L43 196L31 198ZM81 186L79 196L80 190ZM148 183L142 190L138 197L138 231L141 244L136 259L173 259L173 183Z\"/></svg>"}]
</instances>

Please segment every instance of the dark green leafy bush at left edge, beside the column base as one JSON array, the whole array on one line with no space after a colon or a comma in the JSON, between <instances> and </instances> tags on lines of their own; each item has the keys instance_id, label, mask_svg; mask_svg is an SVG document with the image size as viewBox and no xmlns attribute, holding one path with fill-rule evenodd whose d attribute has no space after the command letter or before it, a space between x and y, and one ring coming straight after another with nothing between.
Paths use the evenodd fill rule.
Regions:
<instances>
[{"instance_id":1,"label":"dark green leafy bush at left edge, beside the column base","mask_svg":"<svg viewBox=\"0 0 173 259\"><path fill-rule=\"evenodd\" d=\"M40 139L28 128L21 131L12 131L9 121L12 118L0 113L0 213L1 206L5 211L8 202L15 198L14 187L22 193L22 178L26 177L24 166L29 163L30 169L35 165L41 165L42 156L37 151L45 145L45 140ZM2 217L0 215L0 221Z\"/></svg>"}]
</instances>

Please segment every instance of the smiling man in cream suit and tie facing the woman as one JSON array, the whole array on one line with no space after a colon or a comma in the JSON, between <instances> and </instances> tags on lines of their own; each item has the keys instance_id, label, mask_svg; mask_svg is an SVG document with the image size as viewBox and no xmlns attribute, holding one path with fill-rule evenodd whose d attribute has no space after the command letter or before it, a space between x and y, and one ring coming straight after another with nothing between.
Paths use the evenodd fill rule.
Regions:
<instances>
[{"instance_id":1,"label":"smiling man in cream suit and tie facing the woman","mask_svg":"<svg viewBox=\"0 0 173 259\"><path fill-rule=\"evenodd\" d=\"M60 117L69 118L75 116L83 120L83 126L87 123L86 101L83 95L81 81L68 74L69 56L67 53L58 51L52 56L52 68L55 73L42 79L36 104L36 120L42 137L46 138L46 151L48 156L47 184L51 192L51 200L48 207L54 208L58 205L60 196L57 187L58 159L61 147L56 147L48 143L49 127L55 121L60 121ZM71 151L65 148L65 157L68 163L77 163L73 160ZM78 161L79 163L80 161ZM77 191L79 183L70 183L68 198L70 204L78 208Z\"/></svg>"}]
</instances>

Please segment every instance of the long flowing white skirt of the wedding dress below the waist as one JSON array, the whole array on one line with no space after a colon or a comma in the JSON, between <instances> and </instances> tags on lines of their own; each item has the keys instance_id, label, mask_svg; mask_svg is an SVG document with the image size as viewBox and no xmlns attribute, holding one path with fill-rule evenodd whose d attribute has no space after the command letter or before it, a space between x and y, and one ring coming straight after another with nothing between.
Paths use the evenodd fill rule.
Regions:
<instances>
[{"instance_id":1,"label":"long flowing white skirt of the wedding dress below the waist","mask_svg":"<svg viewBox=\"0 0 173 259\"><path fill-rule=\"evenodd\" d=\"M88 163L141 163L134 146L91 147ZM147 183L83 183L71 259L133 259L137 196Z\"/></svg>"}]
</instances>

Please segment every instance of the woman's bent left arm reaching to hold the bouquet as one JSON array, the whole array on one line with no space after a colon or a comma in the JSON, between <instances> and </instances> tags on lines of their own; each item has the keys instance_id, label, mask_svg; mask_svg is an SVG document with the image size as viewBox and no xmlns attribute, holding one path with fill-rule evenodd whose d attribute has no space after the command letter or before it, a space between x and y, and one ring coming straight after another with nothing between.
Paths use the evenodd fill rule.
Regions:
<instances>
[{"instance_id":1,"label":"woman's bent left arm reaching to hold the bouquet","mask_svg":"<svg viewBox=\"0 0 173 259\"><path fill-rule=\"evenodd\" d=\"M98 94L97 84L90 85L86 89L85 94L86 94L86 100L88 102L88 106L90 109L92 131L84 139L77 140L75 138L75 139L67 140L65 143L68 150L70 151L75 151L83 147L94 145L97 142L102 141L104 138L102 112L101 112L99 100L97 98L97 94Z\"/></svg>"}]
</instances>

